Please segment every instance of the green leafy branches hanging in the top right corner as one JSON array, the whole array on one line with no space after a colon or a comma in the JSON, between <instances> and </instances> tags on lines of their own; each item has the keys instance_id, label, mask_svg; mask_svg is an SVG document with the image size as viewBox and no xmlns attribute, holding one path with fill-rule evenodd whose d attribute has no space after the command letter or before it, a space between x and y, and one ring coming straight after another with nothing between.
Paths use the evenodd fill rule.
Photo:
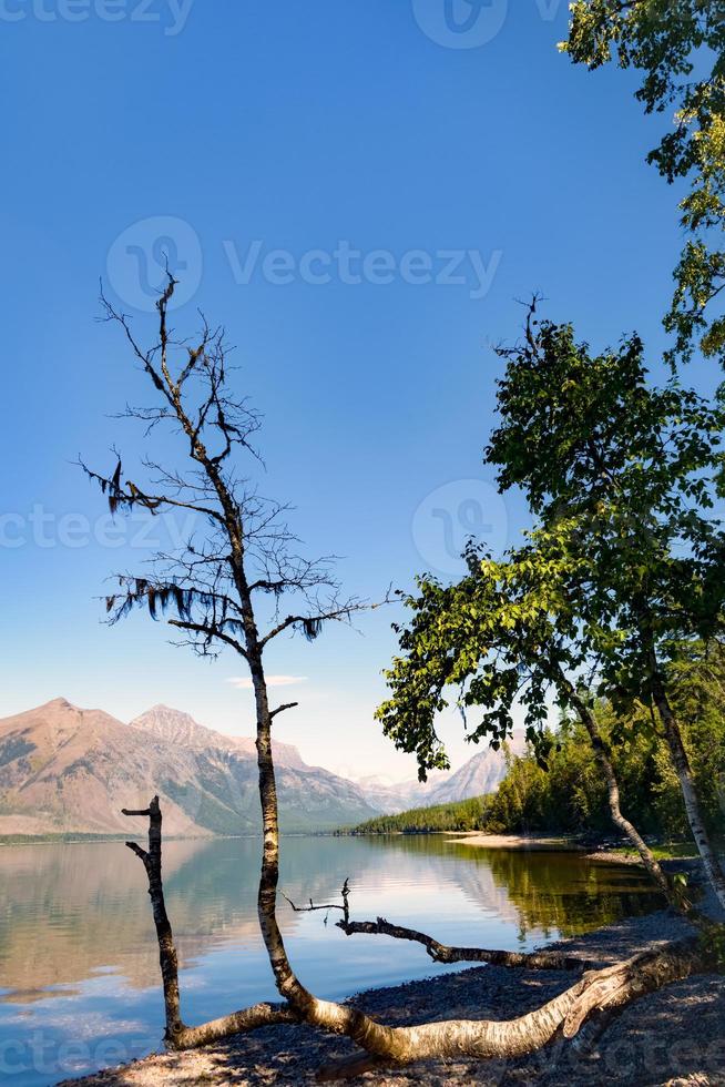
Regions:
<instances>
[{"instance_id":1,"label":"green leafy branches hanging in the top right corner","mask_svg":"<svg viewBox=\"0 0 725 1087\"><path fill-rule=\"evenodd\" d=\"M665 326L673 356L725 364L725 2L724 0L575 0L569 40L575 63L613 58L643 75L636 92L647 113L674 112L674 126L649 154L668 182L688 183L681 202L685 246Z\"/></svg>"}]
</instances>

